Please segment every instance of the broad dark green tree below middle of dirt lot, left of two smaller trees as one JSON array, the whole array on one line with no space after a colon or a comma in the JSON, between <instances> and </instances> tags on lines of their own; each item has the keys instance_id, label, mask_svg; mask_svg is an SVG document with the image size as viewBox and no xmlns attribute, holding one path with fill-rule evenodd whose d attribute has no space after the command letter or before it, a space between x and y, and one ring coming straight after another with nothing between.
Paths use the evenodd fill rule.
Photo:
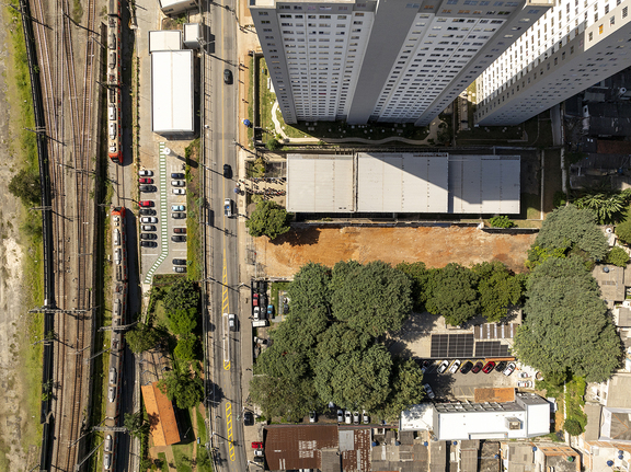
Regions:
<instances>
[{"instance_id":1,"label":"broad dark green tree below middle of dirt lot, left of two smaller trees","mask_svg":"<svg viewBox=\"0 0 631 472\"><path fill-rule=\"evenodd\" d=\"M399 331L412 310L410 279L381 261L339 262L331 287L333 316L372 336Z\"/></svg>"}]
</instances>

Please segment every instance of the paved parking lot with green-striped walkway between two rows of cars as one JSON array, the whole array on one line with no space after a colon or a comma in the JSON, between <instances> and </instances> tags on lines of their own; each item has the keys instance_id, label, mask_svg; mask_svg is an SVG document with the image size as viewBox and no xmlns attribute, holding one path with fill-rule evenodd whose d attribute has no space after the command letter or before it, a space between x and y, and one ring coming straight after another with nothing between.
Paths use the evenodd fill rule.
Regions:
<instances>
[{"instance_id":1,"label":"paved parking lot with green-striped walkway between two rows of cars","mask_svg":"<svg viewBox=\"0 0 631 472\"><path fill-rule=\"evenodd\" d=\"M153 203L151 207L146 207L153 210L151 211L152 215L140 215L140 218L150 218L149 220L140 219L140 241L156 243L154 247L140 247L141 279L145 284L150 284L154 274L172 274L174 272L174 258L187 258L184 159L173 151L167 153L164 142L158 145L158 159L147 160L141 168L141 171L150 171L152 175L139 175L139 179L152 179L152 185L156 187L156 192L140 193L140 202ZM180 175L172 176L173 174ZM177 185L173 185L173 182L176 182ZM179 194L175 194L174 189ZM173 206L176 208L172 208ZM174 214L179 214L181 218L173 218ZM142 239L142 234L156 234L157 239ZM173 237L180 237L177 239L181 241L173 241ZM182 265L181 267L186 266Z\"/></svg>"}]
</instances>

